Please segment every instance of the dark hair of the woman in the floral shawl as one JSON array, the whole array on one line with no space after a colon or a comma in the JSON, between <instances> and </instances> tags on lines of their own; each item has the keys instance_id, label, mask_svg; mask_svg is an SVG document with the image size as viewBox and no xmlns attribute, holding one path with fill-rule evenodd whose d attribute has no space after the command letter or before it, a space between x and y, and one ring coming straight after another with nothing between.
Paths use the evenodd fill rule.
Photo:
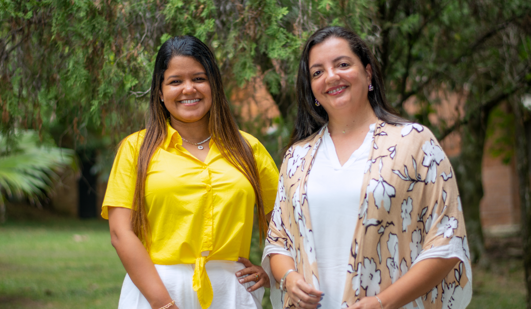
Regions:
<instances>
[{"instance_id":1,"label":"dark hair of the woman in the floral shawl","mask_svg":"<svg viewBox=\"0 0 531 309\"><path fill-rule=\"evenodd\" d=\"M374 87L370 91L369 102L378 119L392 123L404 123L408 120L399 116L398 112L387 102L386 93L383 86L383 78L380 72L380 66L376 62L366 43L353 31L343 27L325 27L321 28L306 41L297 75L297 117L295 126L292 131L289 143L286 148L316 133L325 123L328 122L328 113L322 106L315 106L315 97L313 96L311 82L309 58L310 50L315 45L322 43L329 38L345 39L350 46L350 50L356 54L366 67L367 64L372 68L371 83Z\"/></svg>"}]
</instances>

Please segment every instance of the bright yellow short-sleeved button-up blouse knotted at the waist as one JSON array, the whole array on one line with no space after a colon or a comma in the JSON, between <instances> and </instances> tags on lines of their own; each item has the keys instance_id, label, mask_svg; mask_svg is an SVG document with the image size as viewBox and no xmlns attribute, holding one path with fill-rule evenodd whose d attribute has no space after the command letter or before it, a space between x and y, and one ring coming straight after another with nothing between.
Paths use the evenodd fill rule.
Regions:
<instances>
[{"instance_id":1,"label":"bright yellow short-sleeved button-up blouse knotted at the waist","mask_svg":"<svg viewBox=\"0 0 531 309\"><path fill-rule=\"evenodd\" d=\"M101 210L106 219L109 206L132 207L136 158L144 134L142 130L130 135L118 150ZM267 214L275 204L277 166L256 138L242 135L254 152ZM204 163L182 143L168 124L165 142L148 167L145 208L151 228L149 255L155 264L195 264L193 288L201 306L207 308L212 302L212 287L204 264L249 258L255 195L249 180L221 155L212 140ZM204 251L209 251L205 257L201 254Z\"/></svg>"}]
</instances>

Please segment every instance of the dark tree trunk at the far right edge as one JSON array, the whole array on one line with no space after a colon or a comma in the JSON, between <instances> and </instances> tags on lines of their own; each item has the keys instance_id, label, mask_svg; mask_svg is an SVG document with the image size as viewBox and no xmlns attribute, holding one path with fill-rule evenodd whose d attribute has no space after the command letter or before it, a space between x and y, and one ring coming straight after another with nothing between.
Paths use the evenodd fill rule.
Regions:
<instances>
[{"instance_id":1,"label":"dark tree trunk at the far right edge","mask_svg":"<svg viewBox=\"0 0 531 309\"><path fill-rule=\"evenodd\" d=\"M524 269L527 289L527 309L531 309L531 175L529 155L531 155L531 119L525 115L520 102L511 100L516 118L516 170L518 173L518 189L520 192L521 237L524 249ZM527 116L527 117L526 117Z\"/></svg>"}]
</instances>

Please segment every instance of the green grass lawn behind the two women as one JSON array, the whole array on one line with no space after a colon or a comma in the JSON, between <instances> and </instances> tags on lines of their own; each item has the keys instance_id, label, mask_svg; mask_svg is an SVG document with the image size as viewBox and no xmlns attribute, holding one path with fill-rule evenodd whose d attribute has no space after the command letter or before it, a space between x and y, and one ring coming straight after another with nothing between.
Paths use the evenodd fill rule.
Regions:
<instances>
[{"instance_id":1,"label":"green grass lawn behind the two women","mask_svg":"<svg viewBox=\"0 0 531 309\"><path fill-rule=\"evenodd\" d=\"M259 256L253 248L251 260ZM106 221L0 225L0 309L116 308L124 276ZM521 260L493 262L489 271L476 268L473 282L469 309L525 308ZM264 299L264 308L268 303Z\"/></svg>"}]
</instances>

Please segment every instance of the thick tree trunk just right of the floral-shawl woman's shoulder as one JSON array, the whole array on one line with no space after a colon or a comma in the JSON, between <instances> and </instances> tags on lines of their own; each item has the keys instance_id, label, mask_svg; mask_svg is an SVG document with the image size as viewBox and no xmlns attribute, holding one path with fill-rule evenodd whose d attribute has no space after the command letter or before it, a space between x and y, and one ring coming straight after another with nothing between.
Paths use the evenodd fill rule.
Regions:
<instances>
[{"instance_id":1,"label":"thick tree trunk just right of the floral-shawl woman's shoulder","mask_svg":"<svg viewBox=\"0 0 531 309\"><path fill-rule=\"evenodd\" d=\"M470 260L488 265L483 243L483 231L479 217L479 201L483 197L481 181L481 163L486 131L485 115L471 116L468 123L461 127L461 154L452 160L456 172L459 195L463 204Z\"/></svg>"}]
</instances>

